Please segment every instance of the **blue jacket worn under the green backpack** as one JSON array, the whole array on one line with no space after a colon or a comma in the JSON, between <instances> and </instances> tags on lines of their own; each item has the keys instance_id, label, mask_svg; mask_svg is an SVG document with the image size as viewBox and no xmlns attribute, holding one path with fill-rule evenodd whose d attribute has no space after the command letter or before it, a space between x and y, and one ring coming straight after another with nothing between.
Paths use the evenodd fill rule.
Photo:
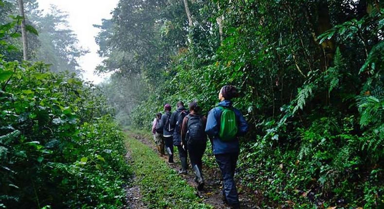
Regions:
<instances>
[{"instance_id":1,"label":"blue jacket worn under the green backpack","mask_svg":"<svg viewBox=\"0 0 384 209\"><path fill-rule=\"evenodd\" d=\"M229 100L224 100L219 103L219 106L231 107L232 102ZM248 132L248 123L246 122L243 114L236 108L232 108L235 112L237 122L238 122L238 132L237 136L241 137ZM207 126L205 132L208 134L209 139L212 140L212 150L214 155L226 154L226 153L238 153L240 151L239 139L234 139L233 141L222 141L219 138L220 131L220 118L222 110L219 107L215 107L209 111L207 118Z\"/></svg>"}]
</instances>

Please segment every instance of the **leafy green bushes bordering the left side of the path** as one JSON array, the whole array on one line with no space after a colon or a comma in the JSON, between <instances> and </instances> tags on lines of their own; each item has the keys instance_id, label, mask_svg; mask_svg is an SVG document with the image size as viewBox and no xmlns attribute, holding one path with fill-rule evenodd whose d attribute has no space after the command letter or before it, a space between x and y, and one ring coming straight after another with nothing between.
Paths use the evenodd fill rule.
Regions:
<instances>
[{"instance_id":1,"label":"leafy green bushes bordering the left side of the path","mask_svg":"<svg viewBox=\"0 0 384 209\"><path fill-rule=\"evenodd\" d=\"M0 208L121 208L131 170L113 109L75 74L20 61L21 17L10 20L0 24Z\"/></svg>"}]
</instances>

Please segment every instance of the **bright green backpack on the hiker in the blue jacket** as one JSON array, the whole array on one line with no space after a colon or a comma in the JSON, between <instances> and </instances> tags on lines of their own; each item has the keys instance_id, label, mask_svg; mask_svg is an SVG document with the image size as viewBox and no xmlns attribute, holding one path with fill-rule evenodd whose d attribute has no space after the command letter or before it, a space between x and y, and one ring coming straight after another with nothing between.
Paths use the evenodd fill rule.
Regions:
<instances>
[{"instance_id":1,"label":"bright green backpack on the hiker in the blue jacket","mask_svg":"<svg viewBox=\"0 0 384 209\"><path fill-rule=\"evenodd\" d=\"M219 137L223 141L231 141L236 139L237 134L237 121L235 112L226 107L219 106L222 110L220 117L220 131Z\"/></svg>"}]
</instances>

